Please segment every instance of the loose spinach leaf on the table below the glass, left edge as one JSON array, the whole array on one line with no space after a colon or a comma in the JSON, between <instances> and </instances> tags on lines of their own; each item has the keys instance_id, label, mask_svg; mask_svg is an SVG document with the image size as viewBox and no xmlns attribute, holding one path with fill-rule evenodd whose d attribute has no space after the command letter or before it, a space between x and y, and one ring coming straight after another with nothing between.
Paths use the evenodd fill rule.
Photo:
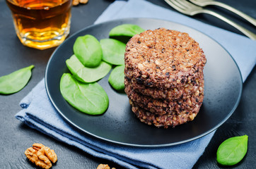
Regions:
<instances>
[{"instance_id":1,"label":"loose spinach leaf on the table below the glass, left edge","mask_svg":"<svg viewBox=\"0 0 256 169\"><path fill-rule=\"evenodd\" d=\"M30 65L0 77L0 94L13 94L23 89L30 80L33 68L34 65Z\"/></svg>"}]
</instances>

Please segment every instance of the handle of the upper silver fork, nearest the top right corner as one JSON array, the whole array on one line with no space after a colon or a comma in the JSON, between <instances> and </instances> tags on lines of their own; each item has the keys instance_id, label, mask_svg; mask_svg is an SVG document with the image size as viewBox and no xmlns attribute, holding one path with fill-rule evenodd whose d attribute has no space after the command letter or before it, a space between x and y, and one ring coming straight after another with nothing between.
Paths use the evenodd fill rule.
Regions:
<instances>
[{"instance_id":1,"label":"handle of the upper silver fork, nearest the top right corner","mask_svg":"<svg viewBox=\"0 0 256 169\"><path fill-rule=\"evenodd\" d=\"M226 8L227 10L236 13L237 15L240 15L240 17L244 18L245 20L248 20L248 22L252 23L252 25L256 26L256 20L255 18L250 17L249 15L246 15L245 13L238 11L237 9L228 6L227 4L223 4L219 1L206 1L204 5L215 5L215 6L221 6L222 8Z\"/></svg>"}]
</instances>

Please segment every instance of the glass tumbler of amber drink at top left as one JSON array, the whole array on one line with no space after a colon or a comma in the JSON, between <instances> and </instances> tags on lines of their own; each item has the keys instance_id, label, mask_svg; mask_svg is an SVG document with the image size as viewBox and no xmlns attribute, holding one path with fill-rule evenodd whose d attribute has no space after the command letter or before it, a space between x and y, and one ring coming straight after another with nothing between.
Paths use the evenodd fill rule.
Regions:
<instances>
[{"instance_id":1,"label":"glass tumbler of amber drink at top left","mask_svg":"<svg viewBox=\"0 0 256 169\"><path fill-rule=\"evenodd\" d=\"M72 0L6 0L18 38L25 46L47 49L69 35Z\"/></svg>"}]
</instances>

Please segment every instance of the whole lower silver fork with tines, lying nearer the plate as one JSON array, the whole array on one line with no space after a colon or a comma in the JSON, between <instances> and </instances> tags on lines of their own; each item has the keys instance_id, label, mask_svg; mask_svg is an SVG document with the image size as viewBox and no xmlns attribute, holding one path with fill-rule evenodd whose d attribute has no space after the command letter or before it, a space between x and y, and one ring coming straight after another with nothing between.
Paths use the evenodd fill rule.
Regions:
<instances>
[{"instance_id":1,"label":"whole lower silver fork with tines, lying nearer the plate","mask_svg":"<svg viewBox=\"0 0 256 169\"><path fill-rule=\"evenodd\" d=\"M194 5L188 1L185 1L185 0L165 0L165 2L167 2L173 8L175 8L177 11L184 13L186 15L196 15L198 13L208 13L210 15L214 15L217 18L225 21L229 25L232 25L236 29L240 30L240 32L243 32L243 34L248 36L250 39L253 39L253 40L256 39L256 35L253 32L250 32L250 30L247 30L244 27L238 25L237 23L234 23L232 20L225 18L224 16L220 15L219 13L216 13L214 11L209 11L207 9L196 6L196 5Z\"/></svg>"}]
</instances>

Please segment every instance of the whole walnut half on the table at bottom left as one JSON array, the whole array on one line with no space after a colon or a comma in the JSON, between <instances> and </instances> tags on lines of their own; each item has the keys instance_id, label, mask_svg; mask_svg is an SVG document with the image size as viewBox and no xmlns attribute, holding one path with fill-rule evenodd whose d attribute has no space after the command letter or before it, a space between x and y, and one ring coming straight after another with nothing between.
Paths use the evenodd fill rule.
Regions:
<instances>
[{"instance_id":1,"label":"whole walnut half on the table at bottom left","mask_svg":"<svg viewBox=\"0 0 256 169\"><path fill-rule=\"evenodd\" d=\"M41 168L51 168L52 163L57 161L57 155L54 150L51 150L49 147L44 146L43 144L33 144L33 147L30 147L25 150L25 156L35 165L40 166ZM51 163L52 161L52 163Z\"/></svg>"}]
</instances>

